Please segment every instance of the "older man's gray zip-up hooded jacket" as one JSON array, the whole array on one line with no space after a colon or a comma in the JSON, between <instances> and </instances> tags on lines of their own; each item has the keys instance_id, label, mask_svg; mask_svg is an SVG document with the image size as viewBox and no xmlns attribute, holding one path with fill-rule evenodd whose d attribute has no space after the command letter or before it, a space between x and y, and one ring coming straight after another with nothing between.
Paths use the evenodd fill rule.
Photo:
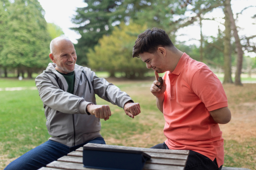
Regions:
<instances>
[{"instance_id":1,"label":"older man's gray zip-up hooded jacket","mask_svg":"<svg viewBox=\"0 0 256 170\"><path fill-rule=\"evenodd\" d=\"M88 104L96 104L95 94L123 108L131 97L106 79L99 78L90 68L75 65L74 94L67 92L65 78L49 63L35 79L39 96L44 103L49 140L69 147L102 137L99 118L87 113Z\"/></svg>"}]
</instances>

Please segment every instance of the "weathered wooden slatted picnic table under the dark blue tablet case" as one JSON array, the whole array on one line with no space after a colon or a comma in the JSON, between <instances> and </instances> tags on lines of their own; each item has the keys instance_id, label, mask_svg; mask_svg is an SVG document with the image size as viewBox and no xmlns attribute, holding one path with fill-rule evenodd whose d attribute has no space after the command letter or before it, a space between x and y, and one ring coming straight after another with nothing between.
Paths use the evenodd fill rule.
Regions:
<instances>
[{"instance_id":1,"label":"weathered wooden slatted picnic table under the dark blue tablet case","mask_svg":"<svg viewBox=\"0 0 256 170\"><path fill-rule=\"evenodd\" d=\"M113 148L119 150L137 150L145 152L151 156L151 159L145 162L143 170L184 170L189 150L164 150L150 149L142 147L126 147L108 144L88 143L87 147ZM94 168L86 168L83 164L83 147L73 151L67 156L59 158L42 167L39 170L100 170Z\"/></svg>"}]
</instances>

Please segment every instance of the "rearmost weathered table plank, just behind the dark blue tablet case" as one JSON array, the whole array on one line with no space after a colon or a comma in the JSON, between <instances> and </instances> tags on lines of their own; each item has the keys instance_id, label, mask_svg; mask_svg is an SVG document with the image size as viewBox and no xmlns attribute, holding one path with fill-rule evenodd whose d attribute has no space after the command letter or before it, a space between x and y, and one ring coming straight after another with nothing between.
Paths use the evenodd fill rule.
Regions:
<instances>
[{"instance_id":1,"label":"rearmost weathered table plank, just behind the dark blue tablet case","mask_svg":"<svg viewBox=\"0 0 256 170\"><path fill-rule=\"evenodd\" d=\"M172 153L172 154L181 154L181 155L189 155L189 150L168 150L168 149L151 149L151 148L143 148L143 147L126 147L126 146L117 146L117 145L109 145L109 144L93 144L87 143L85 146L89 147L102 147L102 148L114 148L114 149L123 149L123 150L138 150L143 152L154 152L154 153ZM78 148L76 151L82 152L83 147Z\"/></svg>"}]
</instances>

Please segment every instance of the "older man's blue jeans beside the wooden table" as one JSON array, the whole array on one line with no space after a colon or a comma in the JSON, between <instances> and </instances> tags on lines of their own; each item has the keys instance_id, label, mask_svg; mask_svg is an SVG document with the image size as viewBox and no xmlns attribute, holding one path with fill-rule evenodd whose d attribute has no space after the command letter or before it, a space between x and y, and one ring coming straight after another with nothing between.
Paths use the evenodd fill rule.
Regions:
<instances>
[{"instance_id":1,"label":"older man's blue jeans beside the wooden table","mask_svg":"<svg viewBox=\"0 0 256 170\"><path fill-rule=\"evenodd\" d=\"M87 143L106 144L102 137L95 138L74 147L68 147L64 144L48 140L12 161L4 170L38 170Z\"/></svg>"}]
</instances>

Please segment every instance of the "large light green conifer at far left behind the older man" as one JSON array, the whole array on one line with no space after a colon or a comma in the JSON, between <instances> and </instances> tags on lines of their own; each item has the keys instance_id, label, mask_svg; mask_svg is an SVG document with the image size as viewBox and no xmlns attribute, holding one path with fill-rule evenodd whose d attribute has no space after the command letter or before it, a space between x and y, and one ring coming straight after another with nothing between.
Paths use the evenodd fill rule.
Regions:
<instances>
[{"instance_id":1,"label":"large light green conifer at far left behind the older man","mask_svg":"<svg viewBox=\"0 0 256 170\"><path fill-rule=\"evenodd\" d=\"M47 65L50 37L43 13L37 0L15 0L6 6L0 65L30 73Z\"/></svg>"}]
</instances>

